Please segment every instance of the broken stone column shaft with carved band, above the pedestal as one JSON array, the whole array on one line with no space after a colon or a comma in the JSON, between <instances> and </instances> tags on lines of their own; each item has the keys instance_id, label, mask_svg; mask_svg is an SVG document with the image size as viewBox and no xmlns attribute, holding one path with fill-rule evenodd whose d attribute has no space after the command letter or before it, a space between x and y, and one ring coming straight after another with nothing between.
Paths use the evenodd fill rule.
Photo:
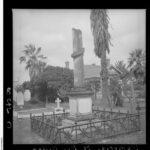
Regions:
<instances>
[{"instance_id":1,"label":"broken stone column shaft with carved band, above the pedestal","mask_svg":"<svg viewBox=\"0 0 150 150\"><path fill-rule=\"evenodd\" d=\"M74 61L74 87L84 86L84 48L82 44L82 32L79 29L72 29L73 34L73 54Z\"/></svg>"}]
</instances>

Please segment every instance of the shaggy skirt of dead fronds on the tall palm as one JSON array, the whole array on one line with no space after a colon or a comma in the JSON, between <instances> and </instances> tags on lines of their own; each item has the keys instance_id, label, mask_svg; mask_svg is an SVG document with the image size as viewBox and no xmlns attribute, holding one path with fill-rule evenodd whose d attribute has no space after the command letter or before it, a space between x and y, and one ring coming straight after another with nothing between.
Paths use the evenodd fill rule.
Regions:
<instances>
[{"instance_id":1,"label":"shaggy skirt of dead fronds on the tall palm","mask_svg":"<svg viewBox=\"0 0 150 150\"><path fill-rule=\"evenodd\" d=\"M108 53L111 36L108 32L109 18L106 9L92 9L91 30L94 37L94 51L96 56L101 58L101 53L106 50Z\"/></svg>"}]
</instances>

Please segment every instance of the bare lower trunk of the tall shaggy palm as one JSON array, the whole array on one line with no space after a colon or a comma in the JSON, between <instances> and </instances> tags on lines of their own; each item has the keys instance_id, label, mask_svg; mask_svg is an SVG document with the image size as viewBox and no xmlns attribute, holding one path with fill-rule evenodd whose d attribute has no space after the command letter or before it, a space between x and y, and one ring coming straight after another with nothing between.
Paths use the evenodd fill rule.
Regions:
<instances>
[{"instance_id":1,"label":"bare lower trunk of the tall shaggy palm","mask_svg":"<svg viewBox=\"0 0 150 150\"><path fill-rule=\"evenodd\" d=\"M108 71L106 63L106 51L103 50L101 56L101 80L102 80L102 104L109 105L109 93L108 93Z\"/></svg>"}]
</instances>

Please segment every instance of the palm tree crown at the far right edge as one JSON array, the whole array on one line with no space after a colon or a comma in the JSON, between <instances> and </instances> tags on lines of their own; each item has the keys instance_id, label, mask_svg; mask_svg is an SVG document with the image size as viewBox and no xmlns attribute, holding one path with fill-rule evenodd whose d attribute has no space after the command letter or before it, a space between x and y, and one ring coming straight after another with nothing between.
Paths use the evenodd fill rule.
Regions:
<instances>
[{"instance_id":1,"label":"palm tree crown at the far right edge","mask_svg":"<svg viewBox=\"0 0 150 150\"><path fill-rule=\"evenodd\" d=\"M128 64L128 68L137 80L145 78L145 53L142 49L135 49L130 53Z\"/></svg>"}]
</instances>

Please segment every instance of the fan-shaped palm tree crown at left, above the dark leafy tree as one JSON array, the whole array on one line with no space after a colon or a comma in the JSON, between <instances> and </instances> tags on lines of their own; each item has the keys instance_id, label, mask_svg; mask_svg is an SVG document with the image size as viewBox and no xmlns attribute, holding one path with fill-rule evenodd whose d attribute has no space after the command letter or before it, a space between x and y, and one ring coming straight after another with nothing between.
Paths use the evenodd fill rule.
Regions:
<instances>
[{"instance_id":1,"label":"fan-shaped palm tree crown at left, above the dark leafy tree","mask_svg":"<svg viewBox=\"0 0 150 150\"><path fill-rule=\"evenodd\" d=\"M34 79L39 73L41 73L46 66L42 60L46 59L43 55L39 55L41 47L35 48L34 45L25 45L24 56L21 56L20 63L26 63L26 70L29 70L30 81Z\"/></svg>"}]
</instances>

